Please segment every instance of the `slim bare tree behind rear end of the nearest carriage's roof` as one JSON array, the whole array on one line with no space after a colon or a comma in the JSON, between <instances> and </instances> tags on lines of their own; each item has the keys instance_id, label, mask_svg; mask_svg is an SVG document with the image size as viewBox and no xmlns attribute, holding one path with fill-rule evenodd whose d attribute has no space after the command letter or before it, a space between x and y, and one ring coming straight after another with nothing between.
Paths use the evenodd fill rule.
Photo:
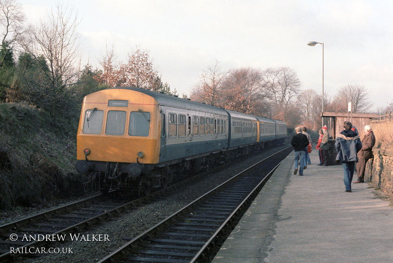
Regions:
<instances>
[{"instance_id":1,"label":"slim bare tree behind rear end of the nearest carriage's roof","mask_svg":"<svg viewBox=\"0 0 393 263\"><path fill-rule=\"evenodd\" d=\"M225 77L225 74L225 72L221 71L217 60L213 65L208 66L206 70L202 71L200 81L202 83L204 103L210 105L216 104L221 81Z\"/></svg>"}]
</instances>

